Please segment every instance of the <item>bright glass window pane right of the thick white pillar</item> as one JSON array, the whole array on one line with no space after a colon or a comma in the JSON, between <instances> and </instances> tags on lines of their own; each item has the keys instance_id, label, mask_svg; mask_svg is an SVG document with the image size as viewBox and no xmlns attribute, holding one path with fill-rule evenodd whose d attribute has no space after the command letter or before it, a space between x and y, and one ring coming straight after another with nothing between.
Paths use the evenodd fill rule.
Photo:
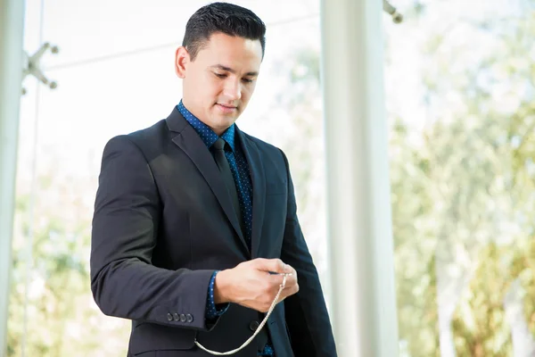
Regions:
<instances>
[{"instance_id":1,"label":"bright glass window pane right of the thick white pillar","mask_svg":"<svg viewBox=\"0 0 535 357\"><path fill-rule=\"evenodd\" d=\"M401 356L535 353L531 1L399 1L386 24Z\"/></svg>"}]
</instances>

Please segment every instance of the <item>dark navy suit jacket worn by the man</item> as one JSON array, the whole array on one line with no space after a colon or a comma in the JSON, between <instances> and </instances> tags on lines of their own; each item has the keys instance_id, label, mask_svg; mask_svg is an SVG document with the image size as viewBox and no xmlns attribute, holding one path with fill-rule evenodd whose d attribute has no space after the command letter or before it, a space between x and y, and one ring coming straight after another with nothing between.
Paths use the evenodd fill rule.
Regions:
<instances>
[{"instance_id":1,"label":"dark navy suit jacket worn by the man","mask_svg":"<svg viewBox=\"0 0 535 357\"><path fill-rule=\"evenodd\" d=\"M207 322L208 286L214 270L259 257L280 258L299 278L300 292L277 304L268 320L276 356L336 356L286 157L240 130L236 135L251 170L251 252L216 162L177 108L104 148L91 288L103 313L133 321L129 356L208 356L195 338L219 352L242 345L263 315L231 303L215 323ZM256 356L262 343L235 356Z\"/></svg>"}]
</instances>

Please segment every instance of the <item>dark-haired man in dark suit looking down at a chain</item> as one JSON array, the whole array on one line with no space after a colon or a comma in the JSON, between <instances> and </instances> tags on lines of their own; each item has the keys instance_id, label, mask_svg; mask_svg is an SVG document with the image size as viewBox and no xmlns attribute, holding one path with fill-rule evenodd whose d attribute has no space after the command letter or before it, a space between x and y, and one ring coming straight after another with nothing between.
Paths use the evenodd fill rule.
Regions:
<instances>
[{"instance_id":1,"label":"dark-haired man in dark suit looking down at a chain","mask_svg":"<svg viewBox=\"0 0 535 357\"><path fill-rule=\"evenodd\" d=\"M202 7L177 49L183 98L166 120L104 148L91 287L132 320L129 356L336 356L283 152L243 133L264 23L234 4ZM299 285L298 285L299 278Z\"/></svg>"}]
</instances>

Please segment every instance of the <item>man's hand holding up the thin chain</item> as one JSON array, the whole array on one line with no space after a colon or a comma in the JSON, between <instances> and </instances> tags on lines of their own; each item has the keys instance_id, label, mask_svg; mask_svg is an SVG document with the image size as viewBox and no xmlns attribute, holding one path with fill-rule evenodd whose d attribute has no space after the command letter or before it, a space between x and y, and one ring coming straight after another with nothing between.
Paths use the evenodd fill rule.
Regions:
<instances>
[{"instance_id":1,"label":"man's hand holding up the thin chain","mask_svg":"<svg viewBox=\"0 0 535 357\"><path fill-rule=\"evenodd\" d=\"M297 272L280 259L258 258L238 264L233 269L222 270L216 276L214 286L215 303L238 303L260 312L267 312L280 286L283 275L291 273L279 296L279 302L299 291Z\"/></svg>"}]
</instances>

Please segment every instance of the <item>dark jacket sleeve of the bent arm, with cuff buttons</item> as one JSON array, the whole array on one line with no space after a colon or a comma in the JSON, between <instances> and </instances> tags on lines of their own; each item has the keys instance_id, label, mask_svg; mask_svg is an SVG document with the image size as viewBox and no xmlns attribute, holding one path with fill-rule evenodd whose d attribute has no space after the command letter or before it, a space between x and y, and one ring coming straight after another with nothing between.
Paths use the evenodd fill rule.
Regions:
<instances>
[{"instance_id":1,"label":"dark jacket sleeve of the bent arm, with cuff buttons","mask_svg":"<svg viewBox=\"0 0 535 357\"><path fill-rule=\"evenodd\" d=\"M103 151L91 236L91 289L104 314L208 330L206 302L213 270L152 265L161 200L149 162L127 136Z\"/></svg>"}]
</instances>

